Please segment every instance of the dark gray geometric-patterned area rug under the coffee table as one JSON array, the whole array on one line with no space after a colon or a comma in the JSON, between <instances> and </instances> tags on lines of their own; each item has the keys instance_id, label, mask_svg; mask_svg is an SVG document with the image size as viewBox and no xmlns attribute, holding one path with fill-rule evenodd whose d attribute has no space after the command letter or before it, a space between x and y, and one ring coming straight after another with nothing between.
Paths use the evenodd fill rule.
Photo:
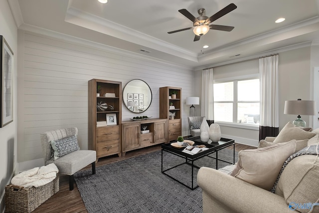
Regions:
<instances>
[{"instance_id":1,"label":"dark gray geometric-patterned area rug under the coffee table","mask_svg":"<svg viewBox=\"0 0 319 213\"><path fill-rule=\"evenodd\" d=\"M232 161L233 150L223 149L218 157ZM163 169L183 161L163 152ZM194 163L199 167L216 165L215 159L209 157ZM218 161L218 168L227 165L230 164ZM194 169L194 185L197 171ZM191 166L167 172L188 186L191 184ZM97 167L95 175L91 170L79 171L74 178L89 213L202 213L201 189L190 190L162 174L161 151Z\"/></svg>"}]
</instances>

